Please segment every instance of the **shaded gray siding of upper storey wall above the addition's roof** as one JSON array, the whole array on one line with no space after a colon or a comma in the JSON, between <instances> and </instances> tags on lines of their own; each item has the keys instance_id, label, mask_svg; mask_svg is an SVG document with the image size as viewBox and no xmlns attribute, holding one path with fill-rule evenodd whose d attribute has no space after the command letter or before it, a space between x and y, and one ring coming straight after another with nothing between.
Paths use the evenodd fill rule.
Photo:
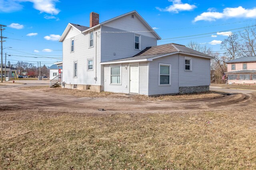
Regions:
<instances>
[{"instance_id":1,"label":"shaded gray siding of upper storey wall above the addition's roof","mask_svg":"<svg viewBox=\"0 0 256 170\"><path fill-rule=\"evenodd\" d=\"M134 49L135 33L104 33L123 32L127 30L116 29L102 25L102 57L101 61L110 61L132 57L146 47L156 46L156 37L148 37L140 33L140 50Z\"/></svg>"}]
</instances>

